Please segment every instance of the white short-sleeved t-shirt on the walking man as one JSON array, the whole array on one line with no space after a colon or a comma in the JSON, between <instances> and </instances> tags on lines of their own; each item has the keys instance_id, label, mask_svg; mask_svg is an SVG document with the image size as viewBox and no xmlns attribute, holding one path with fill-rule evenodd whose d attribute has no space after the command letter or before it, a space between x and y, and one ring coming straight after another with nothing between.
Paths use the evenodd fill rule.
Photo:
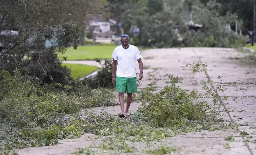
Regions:
<instances>
[{"instance_id":1,"label":"white short-sleeved t-shirt on the walking man","mask_svg":"<svg viewBox=\"0 0 256 155\"><path fill-rule=\"evenodd\" d=\"M113 51L112 58L117 60L116 76L118 77L136 77L135 63L142 55L139 49L131 45L124 49L122 45L116 47Z\"/></svg>"}]
</instances>

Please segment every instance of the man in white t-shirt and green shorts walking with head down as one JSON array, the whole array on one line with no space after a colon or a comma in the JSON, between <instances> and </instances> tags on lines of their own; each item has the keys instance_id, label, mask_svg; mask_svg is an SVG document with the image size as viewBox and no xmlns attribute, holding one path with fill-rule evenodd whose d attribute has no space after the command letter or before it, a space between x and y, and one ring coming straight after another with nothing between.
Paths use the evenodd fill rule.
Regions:
<instances>
[{"instance_id":1,"label":"man in white t-shirt and green shorts walking with head down","mask_svg":"<svg viewBox=\"0 0 256 155\"><path fill-rule=\"evenodd\" d=\"M119 103L122 110L119 117L129 117L130 114L128 113L128 110L132 102L132 93L138 92L135 63L136 60L139 63L139 80L143 77L143 63L139 49L134 45L130 45L130 38L127 34L121 36L121 43L122 45L116 47L112 54L112 83L113 85L116 85L116 89L119 93ZM127 93L126 110L124 110L125 93Z\"/></svg>"}]
</instances>

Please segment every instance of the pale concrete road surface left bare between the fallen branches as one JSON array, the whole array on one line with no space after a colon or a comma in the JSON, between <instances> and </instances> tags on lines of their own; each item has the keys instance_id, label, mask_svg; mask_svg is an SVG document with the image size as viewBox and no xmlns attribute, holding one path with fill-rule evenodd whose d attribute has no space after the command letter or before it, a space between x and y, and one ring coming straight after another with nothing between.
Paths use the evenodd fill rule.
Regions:
<instances>
[{"instance_id":1,"label":"pale concrete road surface left bare between the fallen branches","mask_svg":"<svg viewBox=\"0 0 256 155\"><path fill-rule=\"evenodd\" d=\"M256 68L241 63L237 58L243 57L243 53L237 53L233 49L223 48L181 48L181 49L150 49L142 53L144 65L149 69L144 70L144 79L140 82L139 88L142 89L152 81L148 79L147 73L152 72L152 68L158 68L156 72L151 73L155 76L158 90L167 85L165 74L171 73L174 76L182 77L182 82L178 83L183 89L197 91L202 90L200 80L204 74L192 74L190 68L185 68L188 62L206 62L208 72L215 85L218 84L218 76L223 76L222 83L229 90L225 92L227 96L237 96L236 100L229 98L225 105L231 110L231 119L237 123L239 130L246 130L252 138L245 141L254 141L256 136ZM138 64L137 64L138 68ZM236 82L237 87L231 85ZM221 94L224 95L224 94ZM212 100L205 98L206 101ZM131 110L138 109L140 103L133 103ZM101 111L102 108L94 108L95 111ZM104 108L103 110L115 115L119 113L119 106ZM235 117L236 116L236 117ZM226 116L227 121L231 121ZM225 149L223 145L227 143L224 140L226 136L233 135L235 142L228 142L231 149ZM75 140L61 140L59 145L47 147L25 148L19 151L21 155L68 155L78 147L89 146L92 140L87 138L87 134L82 138ZM246 138L245 138L246 139ZM72 142L73 141L73 142ZM202 131L188 133L186 135L175 136L174 138L163 141L163 144L171 144L175 148L181 148L180 154L184 155L256 155L256 145L252 142L243 142L237 130L227 131ZM100 140L96 140L100 143Z\"/></svg>"}]
</instances>

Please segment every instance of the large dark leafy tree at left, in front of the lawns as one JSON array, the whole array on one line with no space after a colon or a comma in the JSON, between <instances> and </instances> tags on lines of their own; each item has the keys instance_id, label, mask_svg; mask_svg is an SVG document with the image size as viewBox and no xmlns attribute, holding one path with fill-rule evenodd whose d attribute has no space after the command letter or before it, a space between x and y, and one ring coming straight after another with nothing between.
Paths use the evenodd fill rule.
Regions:
<instances>
[{"instance_id":1,"label":"large dark leafy tree at left, in front of the lawns","mask_svg":"<svg viewBox=\"0 0 256 155\"><path fill-rule=\"evenodd\" d=\"M0 4L0 32L18 31L17 36L0 38L7 49L0 55L0 69L20 68L23 76L48 83L64 83L70 76L57 54L76 48L91 17L107 11L101 0L0 0ZM50 47L46 42L51 42ZM41 53L36 62L24 59L31 51Z\"/></svg>"}]
</instances>

